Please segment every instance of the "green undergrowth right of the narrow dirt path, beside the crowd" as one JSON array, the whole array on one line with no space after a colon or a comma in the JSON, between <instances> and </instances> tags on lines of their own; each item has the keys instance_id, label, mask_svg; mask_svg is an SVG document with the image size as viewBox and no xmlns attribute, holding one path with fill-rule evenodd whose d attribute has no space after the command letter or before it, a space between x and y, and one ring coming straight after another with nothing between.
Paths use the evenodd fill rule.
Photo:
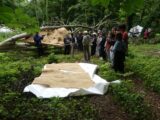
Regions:
<instances>
[{"instance_id":1,"label":"green undergrowth right of the narrow dirt path, beside the crowd","mask_svg":"<svg viewBox=\"0 0 160 120\"><path fill-rule=\"evenodd\" d=\"M158 45L132 46L132 59L127 61L127 69L144 80L146 87L160 93L160 60Z\"/></svg>"}]
</instances>

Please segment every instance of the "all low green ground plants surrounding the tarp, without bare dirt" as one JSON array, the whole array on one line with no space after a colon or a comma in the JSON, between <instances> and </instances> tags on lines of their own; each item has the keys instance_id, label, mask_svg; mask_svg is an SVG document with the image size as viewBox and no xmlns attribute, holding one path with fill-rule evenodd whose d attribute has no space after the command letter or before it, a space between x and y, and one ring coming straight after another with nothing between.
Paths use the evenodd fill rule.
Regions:
<instances>
[{"instance_id":1,"label":"all low green ground plants surrounding the tarp, without bare dirt","mask_svg":"<svg viewBox=\"0 0 160 120\"><path fill-rule=\"evenodd\" d=\"M149 90L153 89L156 92L159 92L160 84L158 81L159 57L149 54L148 51L157 51L159 48L159 45L131 45L131 53L129 53L126 62L126 70L134 72L134 75L145 81L145 85ZM46 100L37 99L29 93L22 92L34 77L40 75L44 64L80 62L82 60L82 54L77 54L72 58L69 55L62 55L57 52L58 50L52 48L47 52L48 55L40 58L37 58L33 51L0 53L1 118L67 120L72 118L96 120L99 118L99 111L89 103L89 97L52 98ZM93 57L91 62L99 65L98 74L107 81L122 80L121 84L111 84L108 93L112 95L116 103L123 107L131 119L154 120L150 105L144 102L144 94L137 93L134 90L132 81L127 80L130 73L124 75L115 73L108 63L96 57Z\"/></svg>"}]
</instances>

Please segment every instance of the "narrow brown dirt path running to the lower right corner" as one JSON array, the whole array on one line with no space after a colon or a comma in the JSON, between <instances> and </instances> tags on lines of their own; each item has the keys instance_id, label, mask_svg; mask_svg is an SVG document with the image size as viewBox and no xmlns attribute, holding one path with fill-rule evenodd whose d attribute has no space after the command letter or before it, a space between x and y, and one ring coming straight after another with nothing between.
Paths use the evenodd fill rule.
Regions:
<instances>
[{"instance_id":1,"label":"narrow brown dirt path running to the lower right corner","mask_svg":"<svg viewBox=\"0 0 160 120\"><path fill-rule=\"evenodd\" d=\"M160 120L160 95L145 89L143 81L139 78L134 78L133 82L135 84L136 92L144 94L144 100L146 103L149 103L154 119Z\"/></svg>"}]
</instances>

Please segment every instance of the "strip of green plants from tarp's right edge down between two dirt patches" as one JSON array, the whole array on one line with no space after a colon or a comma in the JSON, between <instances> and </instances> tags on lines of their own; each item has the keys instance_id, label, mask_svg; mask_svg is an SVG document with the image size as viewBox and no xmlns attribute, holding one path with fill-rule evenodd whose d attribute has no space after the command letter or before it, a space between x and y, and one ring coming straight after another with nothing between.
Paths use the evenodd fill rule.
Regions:
<instances>
[{"instance_id":1,"label":"strip of green plants from tarp's right edge down between two dirt patches","mask_svg":"<svg viewBox=\"0 0 160 120\"><path fill-rule=\"evenodd\" d=\"M129 113L130 119L154 120L150 106L144 102L144 94L135 92L132 80L124 80L126 77L129 77L131 73L121 75L115 73L108 63L101 61L97 63L100 65L99 75L102 78L107 81L122 80L121 84L111 84L109 94L113 96L116 103L120 104L124 110Z\"/></svg>"}]
</instances>

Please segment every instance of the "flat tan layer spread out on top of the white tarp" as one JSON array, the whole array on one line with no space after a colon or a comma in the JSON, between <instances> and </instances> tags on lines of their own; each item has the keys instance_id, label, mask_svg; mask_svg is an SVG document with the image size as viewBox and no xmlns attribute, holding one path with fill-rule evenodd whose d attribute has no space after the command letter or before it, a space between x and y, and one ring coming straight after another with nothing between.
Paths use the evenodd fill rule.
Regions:
<instances>
[{"instance_id":1,"label":"flat tan layer spread out on top of the white tarp","mask_svg":"<svg viewBox=\"0 0 160 120\"><path fill-rule=\"evenodd\" d=\"M47 64L33 84L55 88L89 88L94 83L78 63Z\"/></svg>"}]
</instances>

